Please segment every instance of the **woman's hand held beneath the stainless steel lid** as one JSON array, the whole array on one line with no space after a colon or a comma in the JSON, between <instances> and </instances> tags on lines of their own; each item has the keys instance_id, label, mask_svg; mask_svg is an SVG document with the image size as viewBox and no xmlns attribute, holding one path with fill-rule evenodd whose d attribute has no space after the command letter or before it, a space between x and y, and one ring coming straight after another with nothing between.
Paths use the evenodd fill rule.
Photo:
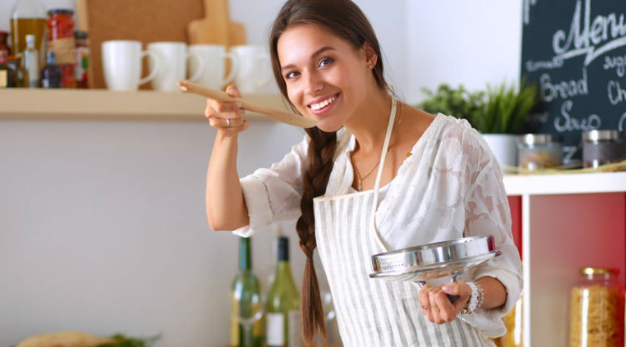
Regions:
<instances>
[{"instance_id":1,"label":"woman's hand held beneath the stainless steel lid","mask_svg":"<svg viewBox=\"0 0 626 347\"><path fill-rule=\"evenodd\" d=\"M458 295L454 303L447 294ZM422 314L428 321L443 324L454 321L460 310L465 307L472 295L472 288L463 281L449 283L440 287L424 285L419 290L417 299L422 307Z\"/></svg>"}]
</instances>

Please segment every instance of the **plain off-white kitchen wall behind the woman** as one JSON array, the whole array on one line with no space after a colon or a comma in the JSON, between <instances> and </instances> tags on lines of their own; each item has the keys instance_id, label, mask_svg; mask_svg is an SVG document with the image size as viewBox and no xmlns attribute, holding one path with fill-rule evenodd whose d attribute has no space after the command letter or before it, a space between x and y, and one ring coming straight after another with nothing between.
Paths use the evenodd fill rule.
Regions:
<instances>
[{"instance_id":1,"label":"plain off-white kitchen wall behind the woman","mask_svg":"<svg viewBox=\"0 0 626 347\"><path fill-rule=\"evenodd\" d=\"M390 82L408 101L422 85L479 88L518 74L521 1L357 2L378 32ZM281 3L231 0L232 19L264 44ZM0 0L0 30L12 5ZM282 158L302 135L252 124L241 138L241 174ZM204 217L213 136L204 121L1 120L0 346L65 329L162 332L157 346L227 344L237 248ZM291 242L300 282L303 256ZM271 232L254 247L265 278Z\"/></svg>"}]
</instances>

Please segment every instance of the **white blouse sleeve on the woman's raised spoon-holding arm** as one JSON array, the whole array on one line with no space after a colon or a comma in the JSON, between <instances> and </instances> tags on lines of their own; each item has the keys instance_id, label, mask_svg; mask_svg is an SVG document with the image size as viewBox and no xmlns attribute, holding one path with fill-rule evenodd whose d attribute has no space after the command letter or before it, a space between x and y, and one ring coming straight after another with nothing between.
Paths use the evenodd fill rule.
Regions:
<instances>
[{"instance_id":1,"label":"white blouse sleeve on the woman's raised spoon-holding arm","mask_svg":"<svg viewBox=\"0 0 626 347\"><path fill-rule=\"evenodd\" d=\"M233 230L235 235L249 237L269 228L274 221L286 221L300 216L308 139L291 148L291 152L268 169L257 169L241 178L243 198L248 207L250 224Z\"/></svg>"}]
</instances>

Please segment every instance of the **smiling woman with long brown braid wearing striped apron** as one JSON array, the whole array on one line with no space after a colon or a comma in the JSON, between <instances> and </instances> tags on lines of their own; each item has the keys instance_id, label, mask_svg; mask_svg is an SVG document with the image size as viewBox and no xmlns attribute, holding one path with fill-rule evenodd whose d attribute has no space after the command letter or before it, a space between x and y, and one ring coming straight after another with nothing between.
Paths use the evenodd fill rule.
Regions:
<instances>
[{"instance_id":1,"label":"smiling woman with long brown braid wearing striped apron","mask_svg":"<svg viewBox=\"0 0 626 347\"><path fill-rule=\"evenodd\" d=\"M318 249L344 346L491 346L487 337L504 333L501 316L520 296L521 273L501 172L481 135L396 98L376 34L353 1L289 0L269 39L282 95L316 126L280 162L239 179L243 109L207 100L217 130L207 172L211 228L249 237L298 219L305 341L326 335ZM226 92L240 96L234 85ZM456 283L419 289L368 276L371 255L488 234L502 255Z\"/></svg>"}]
</instances>

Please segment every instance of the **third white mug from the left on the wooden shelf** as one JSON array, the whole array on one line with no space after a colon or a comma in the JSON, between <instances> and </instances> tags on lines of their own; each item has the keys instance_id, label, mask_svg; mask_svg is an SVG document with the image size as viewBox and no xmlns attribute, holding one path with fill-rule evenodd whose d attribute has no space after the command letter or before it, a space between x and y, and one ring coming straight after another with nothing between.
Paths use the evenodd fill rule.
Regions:
<instances>
[{"instance_id":1,"label":"third white mug from the left on the wooden shelf","mask_svg":"<svg viewBox=\"0 0 626 347\"><path fill-rule=\"evenodd\" d=\"M189 46L189 54L198 59L189 60L189 74L200 74L195 82L214 89L231 83L238 67L233 53L227 53L226 47L220 44L192 44ZM230 72L226 73L226 59L230 59ZM204 69L200 69L204 65ZM199 70L202 70L198 72Z\"/></svg>"}]
</instances>

